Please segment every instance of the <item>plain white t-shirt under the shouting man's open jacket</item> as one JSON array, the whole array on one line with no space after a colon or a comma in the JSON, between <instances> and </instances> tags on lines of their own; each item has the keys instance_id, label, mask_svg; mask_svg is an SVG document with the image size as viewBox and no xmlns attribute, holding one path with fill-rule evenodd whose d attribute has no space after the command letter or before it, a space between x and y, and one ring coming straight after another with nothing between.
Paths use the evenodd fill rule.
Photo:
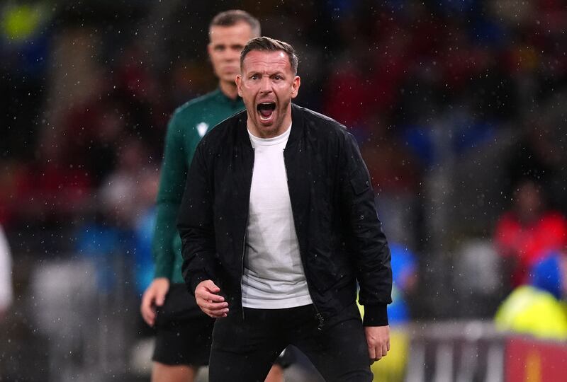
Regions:
<instances>
[{"instance_id":1,"label":"plain white t-shirt under the shouting man's open jacket","mask_svg":"<svg viewBox=\"0 0 567 382\"><path fill-rule=\"evenodd\" d=\"M304 306L311 297L299 255L283 162L290 127L274 138L248 132L254 147L242 306L281 309Z\"/></svg>"}]
</instances>

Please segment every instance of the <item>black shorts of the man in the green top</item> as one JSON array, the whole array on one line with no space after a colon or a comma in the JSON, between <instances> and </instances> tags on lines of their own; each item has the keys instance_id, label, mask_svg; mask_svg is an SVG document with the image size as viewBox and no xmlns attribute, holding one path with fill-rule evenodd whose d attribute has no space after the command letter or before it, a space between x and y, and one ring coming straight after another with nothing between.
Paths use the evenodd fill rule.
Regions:
<instances>
[{"instance_id":1,"label":"black shorts of the man in the green top","mask_svg":"<svg viewBox=\"0 0 567 382\"><path fill-rule=\"evenodd\" d=\"M172 284L157 309L153 361L166 365L208 365L215 320L195 303L185 284Z\"/></svg>"}]
</instances>

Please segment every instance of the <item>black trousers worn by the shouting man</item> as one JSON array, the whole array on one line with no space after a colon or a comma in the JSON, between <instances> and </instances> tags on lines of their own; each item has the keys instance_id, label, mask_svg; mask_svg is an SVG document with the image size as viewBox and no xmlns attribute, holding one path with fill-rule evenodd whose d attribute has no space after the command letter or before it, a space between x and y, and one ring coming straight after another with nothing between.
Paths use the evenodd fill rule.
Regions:
<instances>
[{"instance_id":1,"label":"black trousers worn by the shouting man","mask_svg":"<svg viewBox=\"0 0 567 382\"><path fill-rule=\"evenodd\" d=\"M353 304L352 309L357 309ZM358 310L358 309L357 309ZM286 309L244 308L218 318L213 330L209 381L263 382L288 345L300 349L325 381L372 381L366 337L358 311L318 328L313 305Z\"/></svg>"}]
</instances>

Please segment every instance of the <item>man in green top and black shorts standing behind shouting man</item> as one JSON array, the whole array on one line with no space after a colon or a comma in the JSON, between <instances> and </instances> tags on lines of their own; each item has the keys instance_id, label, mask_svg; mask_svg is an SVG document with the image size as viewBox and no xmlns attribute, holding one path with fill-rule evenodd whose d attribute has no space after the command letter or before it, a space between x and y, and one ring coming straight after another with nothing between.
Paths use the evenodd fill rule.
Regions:
<instances>
[{"instance_id":1,"label":"man in green top and black shorts standing behind shouting man","mask_svg":"<svg viewBox=\"0 0 567 382\"><path fill-rule=\"evenodd\" d=\"M218 88L178 108L167 127L152 244L155 275L140 306L145 322L157 329L154 382L193 381L198 367L208 364L214 320L201 312L183 284L175 222L198 142L209 129L244 108L235 77L240 73L240 51L260 34L260 23L245 11L225 11L213 18L208 32L208 55ZM193 181L198 180L188 180ZM274 366L270 378L281 381L282 376L281 367Z\"/></svg>"}]
</instances>

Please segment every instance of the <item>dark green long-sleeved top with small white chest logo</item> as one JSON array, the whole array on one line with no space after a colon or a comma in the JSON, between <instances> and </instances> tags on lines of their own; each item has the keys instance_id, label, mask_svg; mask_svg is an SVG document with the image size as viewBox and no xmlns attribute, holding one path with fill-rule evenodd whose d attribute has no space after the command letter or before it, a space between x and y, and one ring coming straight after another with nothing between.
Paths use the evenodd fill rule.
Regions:
<instances>
[{"instance_id":1,"label":"dark green long-sleeved top with small white chest logo","mask_svg":"<svg viewBox=\"0 0 567 382\"><path fill-rule=\"evenodd\" d=\"M177 232L176 220L187 170L203 135L211 127L243 109L244 104L240 98L231 100L217 89L180 106L169 120L152 241L155 278L167 277L171 282L184 282L181 276L181 238Z\"/></svg>"}]
</instances>

